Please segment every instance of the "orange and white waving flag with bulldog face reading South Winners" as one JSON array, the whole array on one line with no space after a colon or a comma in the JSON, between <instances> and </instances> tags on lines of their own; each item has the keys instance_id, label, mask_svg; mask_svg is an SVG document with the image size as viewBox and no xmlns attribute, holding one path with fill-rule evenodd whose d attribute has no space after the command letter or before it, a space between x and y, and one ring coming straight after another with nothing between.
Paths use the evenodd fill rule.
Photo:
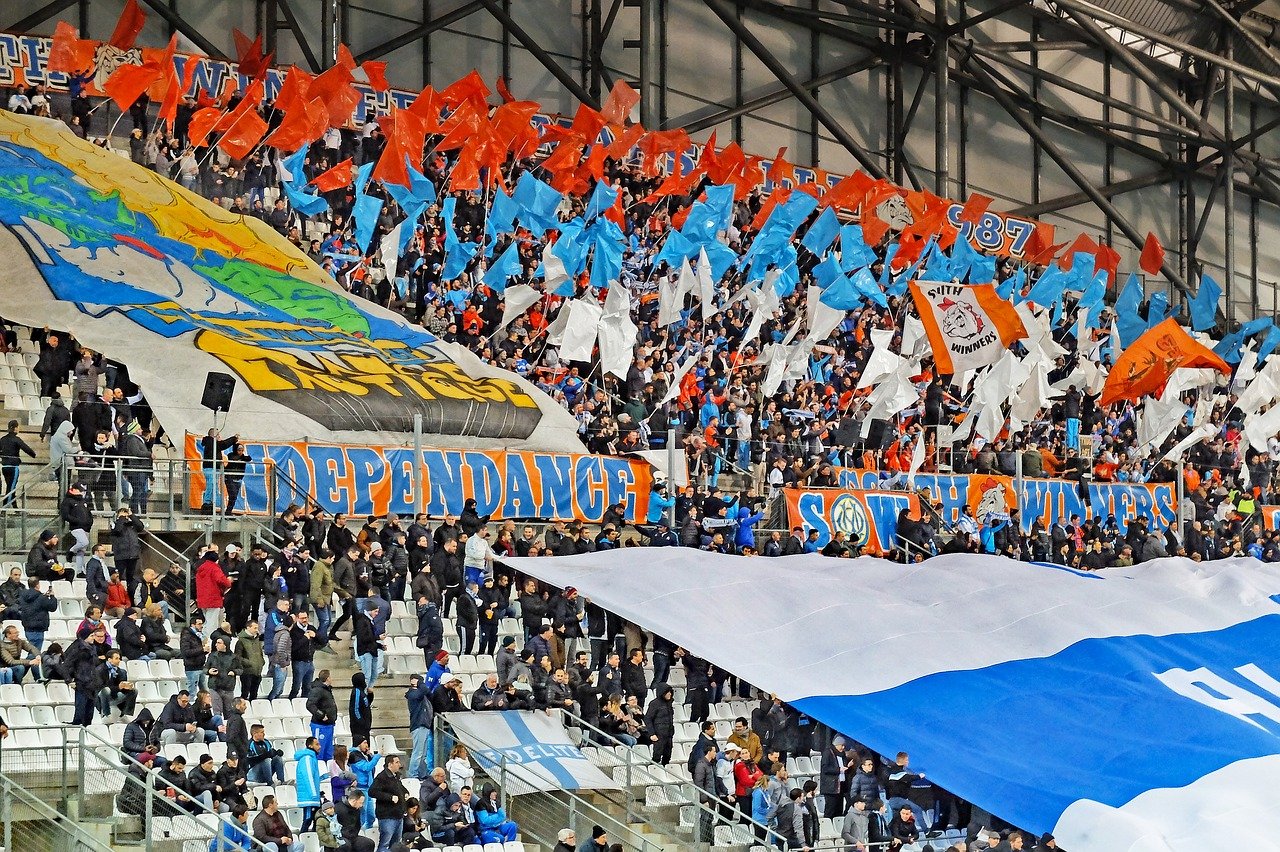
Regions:
<instances>
[{"instance_id":1,"label":"orange and white waving flag with bulldog face reading South Winners","mask_svg":"<svg viewBox=\"0 0 1280 852\"><path fill-rule=\"evenodd\" d=\"M993 284L913 281L911 298L933 348L938 372L954 376L996 363L1027 329Z\"/></svg>"}]
</instances>

